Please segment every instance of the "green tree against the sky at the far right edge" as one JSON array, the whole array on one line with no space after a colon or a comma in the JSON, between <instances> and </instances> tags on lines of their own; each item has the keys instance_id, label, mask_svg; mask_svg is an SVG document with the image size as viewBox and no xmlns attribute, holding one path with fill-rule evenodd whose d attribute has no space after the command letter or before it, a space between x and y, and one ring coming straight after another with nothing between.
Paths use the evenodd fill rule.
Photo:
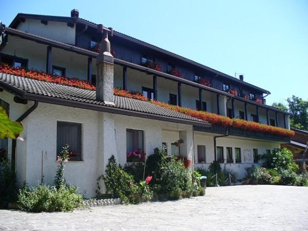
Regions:
<instances>
[{"instance_id":1,"label":"green tree against the sky at the far right edge","mask_svg":"<svg viewBox=\"0 0 308 231\"><path fill-rule=\"evenodd\" d=\"M291 127L308 130L308 101L292 95L287 98L288 108L293 116L291 117Z\"/></svg>"}]
</instances>

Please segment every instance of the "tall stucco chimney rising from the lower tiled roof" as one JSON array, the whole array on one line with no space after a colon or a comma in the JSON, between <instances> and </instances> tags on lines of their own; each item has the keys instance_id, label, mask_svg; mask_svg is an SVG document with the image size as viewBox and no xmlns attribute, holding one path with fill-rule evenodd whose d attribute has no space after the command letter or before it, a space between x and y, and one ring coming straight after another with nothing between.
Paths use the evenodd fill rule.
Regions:
<instances>
[{"instance_id":1,"label":"tall stucco chimney rising from the lower tiled roof","mask_svg":"<svg viewBox=\"0 0 308 231\"><path fill-rule=\"evenodd\" d=\"M108 31L103 29L103 25L98 25L98 30L103 34L100 53L97 56L97 80L96 80L96 99L105 104L113 103L113 56L110 53L110 42Z\"/></svg>"}]
</instances>

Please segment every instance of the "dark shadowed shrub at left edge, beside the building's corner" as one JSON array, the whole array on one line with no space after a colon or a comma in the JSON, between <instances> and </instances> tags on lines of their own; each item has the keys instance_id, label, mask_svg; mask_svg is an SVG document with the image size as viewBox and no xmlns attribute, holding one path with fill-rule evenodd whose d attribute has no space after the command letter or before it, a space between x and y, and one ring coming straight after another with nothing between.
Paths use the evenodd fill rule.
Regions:
<instances>
[{"instance_id":1,"label":"dark shadowed shrub at left edge, beside the building's corner","mask_svg":"<svg viewBox=\"0 0 308 231\"><path fill-rule=\"evenodd\" d=\"M11 202L16 199L16 174L12 170L8 155L0 162L0 198Z\"/></svg>"}]
</instances>

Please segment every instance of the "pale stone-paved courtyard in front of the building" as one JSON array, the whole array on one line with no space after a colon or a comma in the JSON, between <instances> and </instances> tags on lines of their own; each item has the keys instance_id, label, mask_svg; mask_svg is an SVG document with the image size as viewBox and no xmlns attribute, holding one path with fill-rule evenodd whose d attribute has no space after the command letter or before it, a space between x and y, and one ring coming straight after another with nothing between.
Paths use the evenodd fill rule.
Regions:
<instances>
[{"instance_id":1,"label":"pale stone-paved courtyard in front of the building","mask_svg":"<svg viewBox=\"0 0 308 231\"><path fill-rule=\"evenodd\" d=\"M206 196L31 214L0 210L0 230L308 230L308 187L211 187Z\"/></svg>"}]
</instances>

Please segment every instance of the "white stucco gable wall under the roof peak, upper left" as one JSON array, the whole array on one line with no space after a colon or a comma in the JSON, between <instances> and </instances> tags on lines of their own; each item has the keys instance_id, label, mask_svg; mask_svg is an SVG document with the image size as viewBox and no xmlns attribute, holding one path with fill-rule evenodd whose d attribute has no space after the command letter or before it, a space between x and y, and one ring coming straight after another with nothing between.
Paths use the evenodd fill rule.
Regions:
<instances>
[{"instance_id":1,"label":"white stucco gable wall under the roof peak, upper left","mask_svg":"<svg viewBox=\"0 0 308 231\"><path fill-rule=\"evenodd\" d=\"M26 18L26 21L24 23L21 22L16 29L55 41L75 44L75 24L73 27L69 27L66 23L48 21L47 25L44 25L41 23L41 20Z\"/></svg>"}]
</instances>

